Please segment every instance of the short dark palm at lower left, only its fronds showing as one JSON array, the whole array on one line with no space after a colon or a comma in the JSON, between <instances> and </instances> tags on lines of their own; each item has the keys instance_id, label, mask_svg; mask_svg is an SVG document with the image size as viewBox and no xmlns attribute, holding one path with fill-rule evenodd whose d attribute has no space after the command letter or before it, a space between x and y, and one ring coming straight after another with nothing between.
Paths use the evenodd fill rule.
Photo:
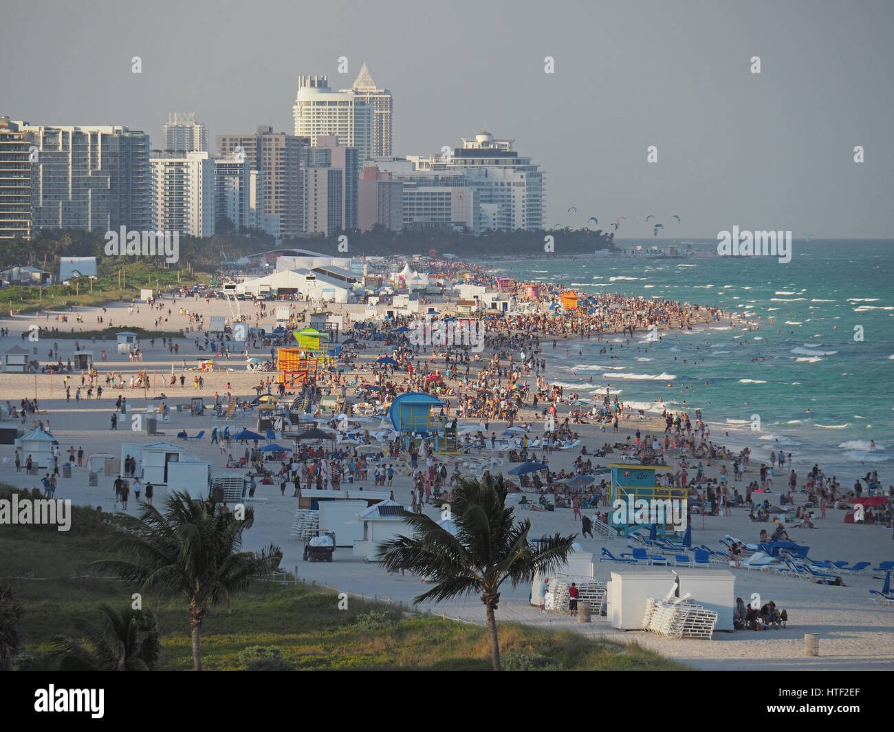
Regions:
<instances>
[{"instance_id":1,"label":"short dark palm at lower left, only its fronds showing","mask_svg":"<svg viewBox=\"0 0 894 732\"><path fill-rule=\"evenodd\" d=\"M125 608L121 615L100 605L105 615L101 626L81 623L80 630L92 647L56 635L53 651L60 656L60 671L152 671L161 663L161 630L151 610Z\"/></svg>"}]
</instances>

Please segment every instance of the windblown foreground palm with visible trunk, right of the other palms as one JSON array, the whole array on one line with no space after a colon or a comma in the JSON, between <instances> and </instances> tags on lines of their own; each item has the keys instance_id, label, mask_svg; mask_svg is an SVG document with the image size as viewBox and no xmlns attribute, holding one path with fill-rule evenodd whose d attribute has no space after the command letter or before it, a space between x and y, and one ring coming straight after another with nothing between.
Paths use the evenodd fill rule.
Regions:
<instances>
[{"instance_id":1,"label":"windblown foreground palm with visible trunk, right of the other palms","mask_svg":"<svg viewBox=\"0 0 894 732\"><path fill-rule=\"evenodd\" d=\"M462 478L448 504L456 536L424 514L404 512L413 538L398 536L379 547L379 559L389 570L409 569L434 583L414 602L447 600L472 592L481 593L491 636L493 670L500 670L500 643L494 611L500 601L500 585L510 580L515 587L530 582L537 572L552 572L565 563L576 535L545 538L535 547L527 540L531 522L513 523L513 509L506 506L507 489L502 475L485 472L482 481Z\"/></svg>"}]
</instances>

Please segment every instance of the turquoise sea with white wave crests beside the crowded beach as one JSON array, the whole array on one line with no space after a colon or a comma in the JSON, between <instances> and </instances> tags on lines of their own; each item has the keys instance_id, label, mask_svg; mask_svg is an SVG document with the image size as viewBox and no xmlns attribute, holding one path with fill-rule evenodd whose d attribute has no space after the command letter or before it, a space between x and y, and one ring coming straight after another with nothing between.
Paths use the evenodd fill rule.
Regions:
<instances>
[{"instance_id":1,"label":"turquoise sea with white wave crests beside the crowded beach","mask_svg":"<svg viewBox=\"0 0 894 732\"><path fill-rule=\"evenodd\" d=\"M666 248L669 242L620 246L656 243ZM696 240L701 256L687 259L489 266L519 280L558 282L578 294L621 292L752 314L760 328L747 333L726 320L668 334L660 343L646 343L645 333L629 345L611 336L606 355L598 355L595 340L581 346L582 356L577 348L567 356L564 348L548 345L544 355L553 379L581 396L604 393L608 385L636 406L654 408L662 396L681 408L685 399L690 413L702 408L714 441L756 447L762 460L772 446L782 447L793 454L796 469L818 461L846 485L867 470L894 483L886 465L894 455L894 241L795 241L787 264L775 257L707 253L716 246L716 240ZM856 326L863 328L862 342L855 340ZM738 345L743 338L748 345ZM763 361L752 362L758 356ZM760 430L752 430L755 414Z\"/></svg>"}]
</instances>

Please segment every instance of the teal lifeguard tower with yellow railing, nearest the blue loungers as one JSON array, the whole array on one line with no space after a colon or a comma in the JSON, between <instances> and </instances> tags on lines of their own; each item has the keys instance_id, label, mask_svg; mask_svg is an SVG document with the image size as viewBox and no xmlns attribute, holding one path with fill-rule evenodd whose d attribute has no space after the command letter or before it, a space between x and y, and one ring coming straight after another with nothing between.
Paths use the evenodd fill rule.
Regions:
<instances>
[{"instance_id":1,"label":"teal lifeguard tower with yellow railing, nearest the blue loungers","mask_svg":"<svg viewBox=\"0 0 894 732\"><path fill-rule=\"evenodd\" d=\"M627 510L618 511L616 514L615 501L619 498L625 501L625 506L633 506L634 508L637 506L649 506L650 513L652 506L655 506L654 501L669 501L669 503L665 504L668 509L675 505L671 501L679 501L680 504L676 504L676 506L682 511L682 515L687 515L686 489L666 488L656 485L655 472L659 470L671 472L673 468L669 465L615 463L609 464L609 467L611 468L609 503L612 507L609 509L608 523L612 529L616 529L627 536L630 532L641 531L644 528L644 523L630 520L630 512ZM645 504L637 504L637 501L643 500L645 500ZM670 531L674 532L673 523L670 520L671 511L667 510L664 512L664 517L664 522L656 523L655 526L655 532L662 537L667 535L669 526ZM647 526L648 523L646 522L645 525Z\"/></svg>"}]
</instances>

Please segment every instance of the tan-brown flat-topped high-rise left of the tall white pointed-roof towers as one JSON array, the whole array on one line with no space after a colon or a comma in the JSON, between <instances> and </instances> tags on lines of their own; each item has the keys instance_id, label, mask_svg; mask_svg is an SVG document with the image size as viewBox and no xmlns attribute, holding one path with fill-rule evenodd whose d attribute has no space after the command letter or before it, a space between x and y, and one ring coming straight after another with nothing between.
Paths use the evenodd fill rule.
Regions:
<instances>
[{"instance_id":1,"label":"tan-brown flat-topped high-rise left of the tall white pointed-roof towers","mask_svg":"<svg viewBox=\"0 0 894 732\"><path fill-rule=\"evenodd\" d=\"M244 155L251 170L263 174L263 211L268 217L279 217L279 234L288 238L304 231L301 151L308 144L308 138L274 132L267 126L258 127L255 134L217 135L221 155Z\"/></svg>"}]
</instances>

